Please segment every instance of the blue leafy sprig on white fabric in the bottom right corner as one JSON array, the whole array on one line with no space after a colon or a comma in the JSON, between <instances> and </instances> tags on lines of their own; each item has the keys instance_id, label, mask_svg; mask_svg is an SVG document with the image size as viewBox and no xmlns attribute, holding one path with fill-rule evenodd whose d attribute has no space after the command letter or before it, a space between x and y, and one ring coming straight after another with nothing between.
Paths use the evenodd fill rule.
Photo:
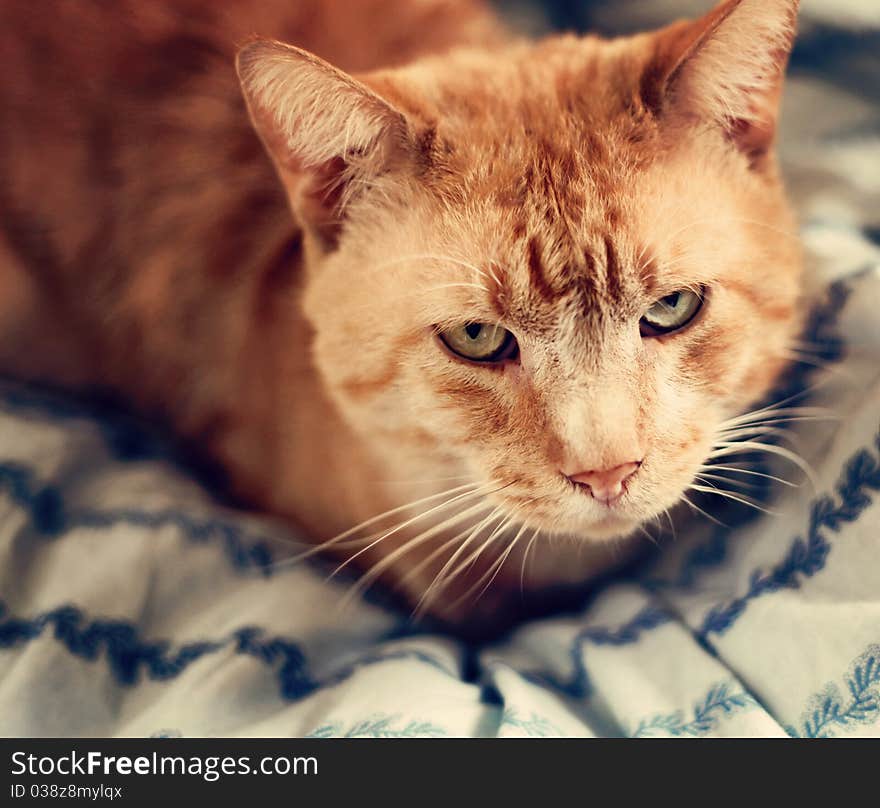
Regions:
<instances>
[{"instance_id":1,"label":"blue leafy sprig on white fabric in the bottom right corner","mask_svg":"<svg viewBox=\"0 0 880 808\"><path fill-rule=\"evenodd\" d=\"M828 738L835 731L880 718L880 645L871 645L850 666L846 695L833 682L810 699L800 730L789 734L802 738Z\"/></svg>"}]
</instances>

